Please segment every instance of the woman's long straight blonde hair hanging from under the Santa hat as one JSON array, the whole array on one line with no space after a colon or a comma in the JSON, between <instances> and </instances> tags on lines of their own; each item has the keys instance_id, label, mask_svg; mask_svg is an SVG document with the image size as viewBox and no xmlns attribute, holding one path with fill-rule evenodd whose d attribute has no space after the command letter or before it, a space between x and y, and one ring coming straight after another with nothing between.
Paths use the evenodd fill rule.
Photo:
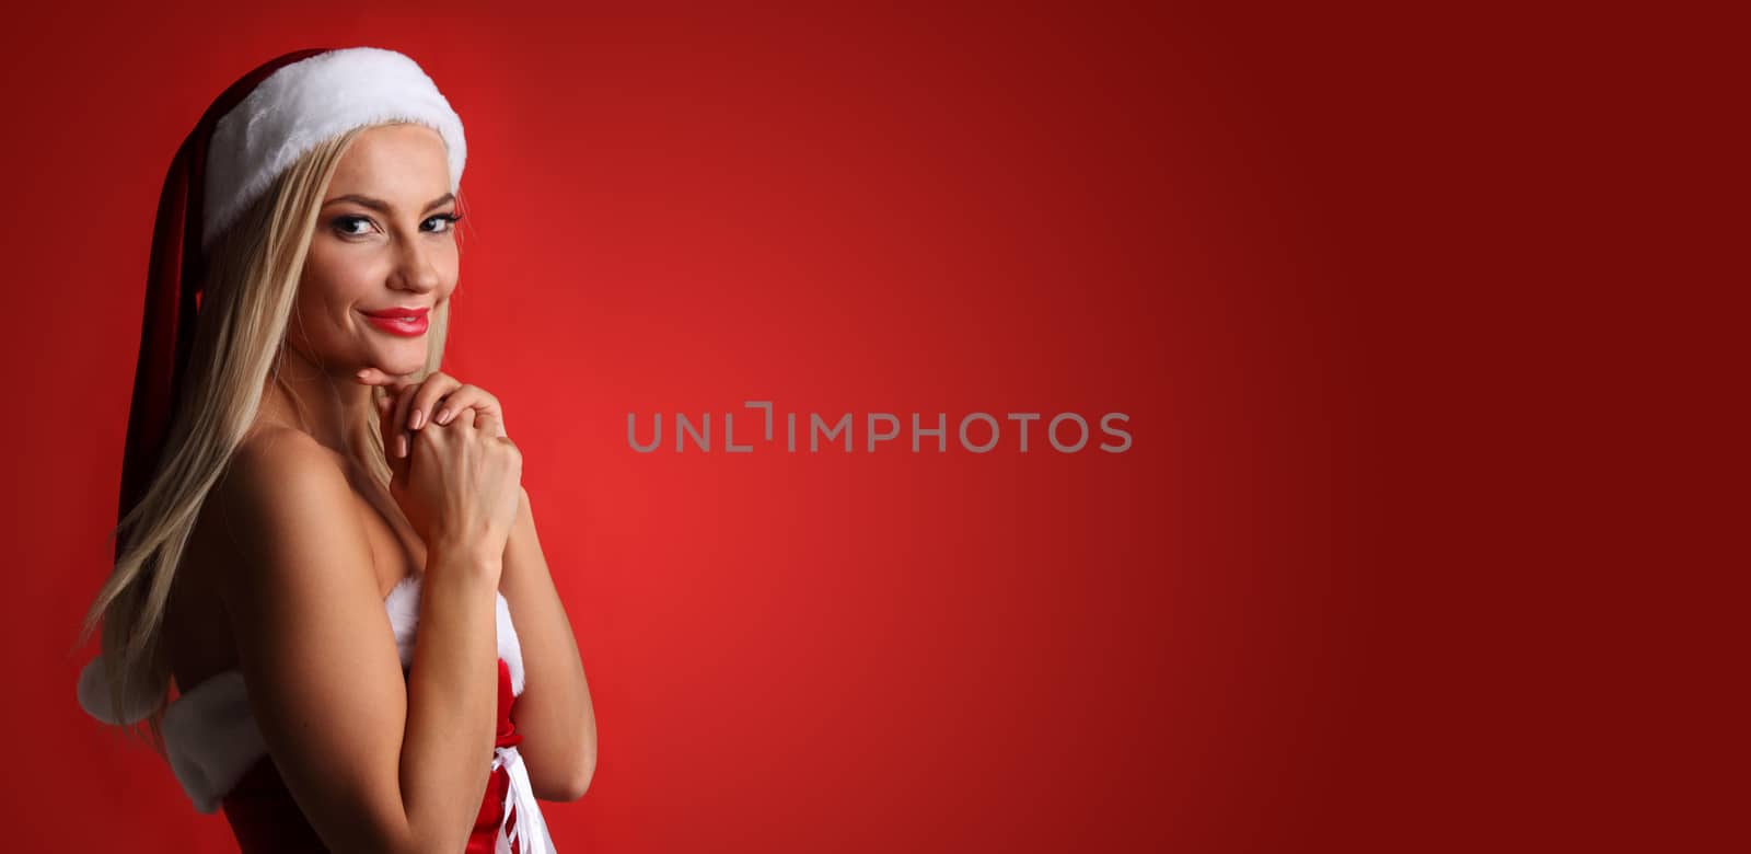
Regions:
<instances>
[{"instance_id":1,"label":"woman's long straight blonde hair hanging from under the Santa hat","mask_svg":"<svg viewBox=\"0 0 1751 854\"><path fill-rule=\"evenodd\" d=\"M112 709L124 709L126 696L154 696L156 705L145 724L147 744L159 756L168 758L163 718L172 670L161 637L172 581L207 494L256 422L268 380L284 385L285 329L322 196L347 147L364 130L354 128L317 144L215 240L187 374L182 378L182 401L156 474L109 537L112 548L119 539L124 550L86 612L79 646L102 623L103 676ZM448 320L447 299L431 312L420 376L441 364ZM373 390L376 397L383 394L383 388ZM371 453L364 453L366 466L387 486L389 464L375 418L368 432ZM121 726L138 733L137 723Z\"/></svg>"}]
</instances>

